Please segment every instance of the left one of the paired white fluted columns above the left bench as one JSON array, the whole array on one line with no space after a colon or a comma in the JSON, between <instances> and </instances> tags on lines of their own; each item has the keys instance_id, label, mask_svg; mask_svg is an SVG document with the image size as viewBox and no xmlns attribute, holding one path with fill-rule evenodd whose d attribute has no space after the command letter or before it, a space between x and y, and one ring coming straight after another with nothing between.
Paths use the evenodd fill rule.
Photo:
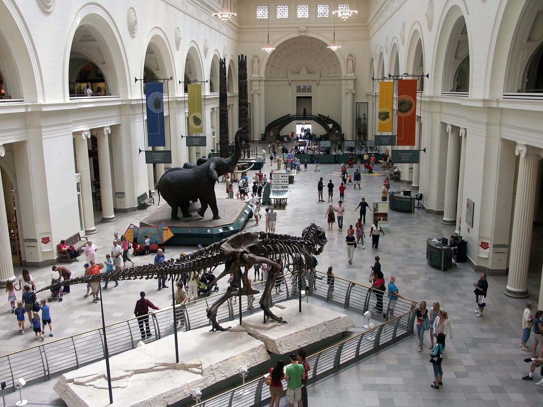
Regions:
<instances>
[{"instance_id":1,"label":"left one of the paired white fluted columns above the left bench","mask_svg":"<svg viewBox=\"0 0 543 407\"><path fill-rule=\"evenodd\" d=\"M75 133L75 161L77 172L81 174L81 199L83 200L83 220L85 234L96 233L94 227L94 211L92 208L91 171L89 169L89 150L87 138L91 137L89 130Z\"/></svg>"}]
</instances>

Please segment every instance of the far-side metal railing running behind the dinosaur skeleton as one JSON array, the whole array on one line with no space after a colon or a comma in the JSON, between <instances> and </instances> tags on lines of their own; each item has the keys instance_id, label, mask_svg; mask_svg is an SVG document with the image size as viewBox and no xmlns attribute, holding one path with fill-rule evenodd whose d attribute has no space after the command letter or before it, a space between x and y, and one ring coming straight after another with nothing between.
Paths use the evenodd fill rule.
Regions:
<instances>
[{"instance_id":1,"label":"far-side metal railing running behind the dinosaur skeleton","mask_svg":"<svg viewBox=\"0 0 543 407\"><path fill-rule=\"evenodd\" d=\"M315 278L317 274L323 275L323 278ZM287 272L282 276L282 282L285 283L285 289L280 294L273 294L273 298L270 298L270 303L278 303L297 298L297 287L292 285L293 282L297 281L297 275L296 272ZM326 284L324 276L326 276L326 274L322 272L317 272L316 274L311 274L309 276L308 282L306 281L306 283L308 283L306 284L308 296L313 296L343 306L343 308L348 308L350 311L359 314L363 314L368 309L370 303L366 302L363 306L358 306L356 297L361 295L360 289L362 289L362 293L368 291L370 293L369 295L376 290L371 289L367 285L334 276L334 292L337 294L337 298L331 298L330 287ZM263 289L265 284L266 282L255 282L253 287L255 289ZM349 290L349 287L357 287L358 292L353 292L352 289ZM206 308L220 295L223 294L214 294L209 297L201 298L187 303L185 307L177 305L176 307L178 307L177 309L179 311L178 318L185 322L184 330L209 327L211 323L206 317ZM260 312L258 307L255 308L252 306L253 300L249 300L249 298L249 296L242 296L242 315L251 315L255 312ZM341 300L339 300L339 298L341 298ZM396 306L396 312L401 313L402 311L413 309L416 306L416 302L411 301L411 303L409 303L409 301L411 300L399 300ZM376 305L378 304L376 303ZM381 307L384 310L382 303ZM170 306L148 314L150 319L149 329L152 332L152 336L146 338L146 341L158 340L173 334L172 308L173 307ZM247 310L247 308L249 308L249 310ZM387 323L395 321L403 315L405 314L396 318L391 318ZM226 321L235 320L237 316L238 306L234 306L233 299L229 298L225 304L219 307L217 320L219 323L224 323ZM386 319L388 319L389 316L387 311ZM133 317L129 320L105 326L105 329L108 332L108 338L111 338L110 341L112 341L109 349L110 355L119 354L129 349L134 349L137 346L139 342L137 335L141 333L142 329L146 328L144 326L139 326L138 322L140 322L140 319L141 317ZM138 330L140 330L140 332L138 332ZM412 330L413 327L411 327L411 331ZM178 329L178 332L182 335L182 328ZM103 333L102 328L100 327L0 356L0 380L8 381L11 384L11 386L7 387L7 391L15 391L16 377L24 376L29 384L41 383L42 381L58 377L74 368L80 368L91 363L96 363L104 358ZM24 363L21 363L22 360L24 360ZM38 368L37 366L40 366L41 368Z\"/></svg>"}]
</instances>

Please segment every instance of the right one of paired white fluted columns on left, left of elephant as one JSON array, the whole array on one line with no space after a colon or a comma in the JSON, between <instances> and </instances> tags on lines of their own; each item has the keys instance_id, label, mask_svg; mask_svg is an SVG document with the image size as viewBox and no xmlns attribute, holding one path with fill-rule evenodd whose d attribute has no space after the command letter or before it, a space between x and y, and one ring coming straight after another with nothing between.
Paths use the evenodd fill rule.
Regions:
<instances>
[{"instance_id":1,"label":"right one of paired white fluted columns on left, left of elephant","mask_svg":"<svg viewBox=\"0 0 543 407\"><path fill-rule=\"evenodd\" d=\"M102 195L102 222L115 222L113 214L113 186L111 183L111 163L109 160L110 126L98 129L98 171L100 171L100 195Z\"/></svg>"}]
</instances>

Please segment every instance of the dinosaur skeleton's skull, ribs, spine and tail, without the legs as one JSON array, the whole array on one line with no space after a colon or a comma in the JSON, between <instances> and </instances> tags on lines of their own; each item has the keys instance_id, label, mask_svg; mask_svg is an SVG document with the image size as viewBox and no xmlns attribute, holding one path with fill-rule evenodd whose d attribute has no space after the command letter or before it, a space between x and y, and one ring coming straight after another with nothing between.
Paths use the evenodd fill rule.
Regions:
<instances>
[{"instance_id":1,"label":"dinosaur skeleton's skull, ribs, spine and tail, without the legs","mask_svg":"<svg viewBox=\"0 0 543 407\"><path fill-rule=\"evenodd\" d=\"M258 238L258 249L260 252L251 252L239 247L237 257L242 253L251 252L253 255L267 257L276 263L283 265L283 269L289 269L289 265L298 267L301 263L302 270L310 270L313 266L312 255L320 254L326 243L326 238L321 237L319 241L319 232L324 234L323 229L315 224L304 228L302 236L291 236L289 234L276 234L266 232L241 232L254 233ZM227 243L237 233L229 238L213 243L203 249L196 250L187 255L182 254L179 258L166 260L163 264L147 264L131 267L123 270L113 270L100 272L92 276L75 277L64 281L50 284L37 292L64 287L65 285L84 284L92 281L111 280L136 280L136 279L156 279L159 275L167 275L169 281L184 280L185 277L193 271L205 271L208 268L217 267L233 260L233 256L226 256L221 246ZM300 261L300 260L301 261Z\"/></svg>"}]
</instances>

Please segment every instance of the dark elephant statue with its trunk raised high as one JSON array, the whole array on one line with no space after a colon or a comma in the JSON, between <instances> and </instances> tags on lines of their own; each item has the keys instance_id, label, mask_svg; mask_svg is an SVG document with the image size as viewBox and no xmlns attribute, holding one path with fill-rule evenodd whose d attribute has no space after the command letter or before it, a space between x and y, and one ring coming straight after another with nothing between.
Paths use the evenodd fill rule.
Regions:
<instances>
[{"instance_id":1,"label":"dark elephant statue with its trunk raised high","mask_svg":"<svg viewBox=\"0 0 543 407\"><path fill-rule=\"evenodd\" d=\"M197 163L185 163L184 168L175 167L167 170L156 184L156 192L172 207L172 220L179 220L178 208L181 208L184 218L192 215L188 212L190 201L200 200L201 207L198 214L203 218L208 206L211 207L213 219L220 219L215 196L215 183L219 182L219 175L235 171L241 149L247 148L245 142L240 141L239 131L236 131L235 149L229 158L211 157L200 158ZM244 144L244 145L242 145Z\"/></svg>"}]
</instances>

